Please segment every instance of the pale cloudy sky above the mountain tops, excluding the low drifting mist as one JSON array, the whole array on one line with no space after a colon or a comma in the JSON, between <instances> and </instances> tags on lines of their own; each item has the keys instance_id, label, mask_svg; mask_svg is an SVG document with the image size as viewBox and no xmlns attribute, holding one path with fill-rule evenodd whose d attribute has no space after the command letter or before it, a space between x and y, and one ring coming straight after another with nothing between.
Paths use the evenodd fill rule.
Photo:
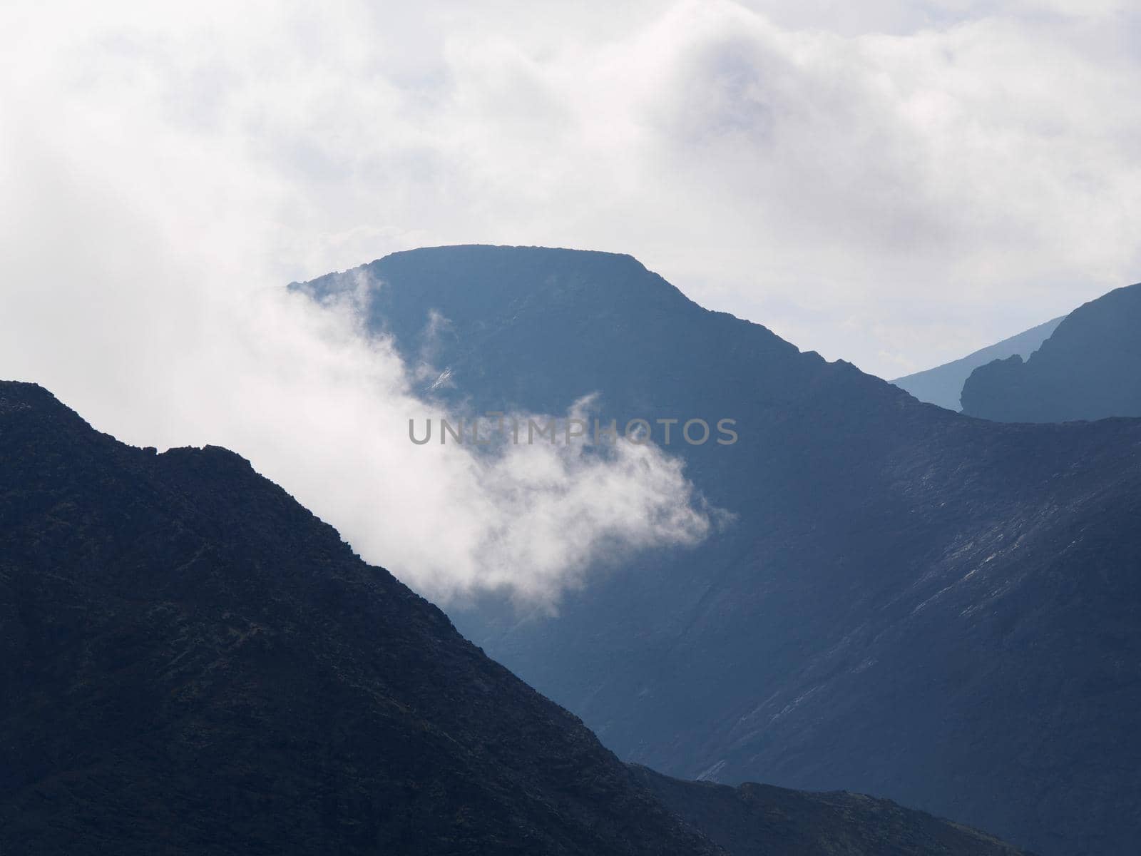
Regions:
<instances>
[{"instance_id":1,"label":"pale cloudy sky above the mountain tops, excluding the low drifting mist","mask_svg":"<svg viewBox=\"0 0 1141 856\"><path fill-rule=\"evenodd\" d=\"M186 240L228 231L211 209L256 223L282 281L435 243L609 249L895 377L1141 266L1117 0L2 14L11 134L132 152L144 208L242 172L177 200Z\"/></svg>"}]
</instances>

